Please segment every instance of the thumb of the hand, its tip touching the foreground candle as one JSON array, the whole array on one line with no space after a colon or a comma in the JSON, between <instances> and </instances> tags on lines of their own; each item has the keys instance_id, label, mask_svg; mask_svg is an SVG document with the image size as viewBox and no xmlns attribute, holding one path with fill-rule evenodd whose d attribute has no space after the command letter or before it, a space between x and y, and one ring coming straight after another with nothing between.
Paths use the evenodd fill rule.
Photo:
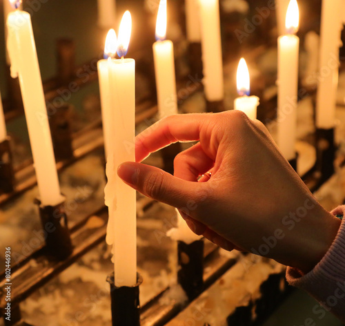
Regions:
<instances>
[{"instance_id":1,"label":"thumb of the hand, its tip touching the foreground candle","mask_svg":"<svg viewBox=\"0 0 345 326\"><path fill-rule=\"evenodd\" d=\"M119 177L140 193L170 206L185 207L195 200L207 182L190 182L176 178L154 166L125 162L117 169ZM196 201L196 200L195 200Z\"/></svg>"}]
</instances>

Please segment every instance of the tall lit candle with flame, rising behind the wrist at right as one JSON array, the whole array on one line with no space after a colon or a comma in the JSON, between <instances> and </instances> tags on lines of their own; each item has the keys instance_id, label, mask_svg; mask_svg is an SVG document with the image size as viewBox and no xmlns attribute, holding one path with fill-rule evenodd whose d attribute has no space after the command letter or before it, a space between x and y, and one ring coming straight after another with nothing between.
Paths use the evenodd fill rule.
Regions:
<instances>
[{"instance_id":1,"label":"tall lit candle with flame, rising behind the wrist at right","mask_svg":"<svg viewBox=\"0 0 345 326\"><path fill-rule=\"evenodd\" d=\"M286 12L288 34L278 38L277 143L286 160L296 156L299 38L293 33L297 32L298 21L297 1L291 0Z\"/></svg>"}]
</instances>

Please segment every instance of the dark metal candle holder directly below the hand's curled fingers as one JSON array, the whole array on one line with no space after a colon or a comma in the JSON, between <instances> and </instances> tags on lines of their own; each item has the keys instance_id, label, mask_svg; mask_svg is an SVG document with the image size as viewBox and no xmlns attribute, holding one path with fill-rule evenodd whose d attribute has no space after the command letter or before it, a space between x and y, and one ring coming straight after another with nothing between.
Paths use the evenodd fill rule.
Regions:
<instances>
[{"instance_id":1,"label":"dark metal candle holder directly below the hand's curled fingers","mask_svg":"<svg viewBox=\"0 0 345 326\"><path fill-rule=\"evenodd\" d=\"M179 271L177 281L186 292L188 299L193 300L204 286L204 241L197 240L190 243L178 241L177 254Z\"/></svg>"}]
</instances>

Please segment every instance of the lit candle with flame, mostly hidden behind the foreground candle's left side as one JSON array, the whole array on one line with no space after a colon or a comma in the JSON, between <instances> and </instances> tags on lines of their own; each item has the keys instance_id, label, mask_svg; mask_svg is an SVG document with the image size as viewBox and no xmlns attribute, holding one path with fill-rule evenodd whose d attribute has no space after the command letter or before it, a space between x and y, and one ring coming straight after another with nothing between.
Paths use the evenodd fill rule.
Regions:
<instances>
[{"instance_id":1,"label":"lit candle with flame, mostly hidden behind the foreground candle's left side","mask_svg":"<svg viewBox=\"0 0 345 326\"><path fill-rule=\"evenodd\" d=\"M117 37L115 30L110 29L106 37L106 46L104 47L104 57L97 62L98 80L99 80L99 94L101 95L101 114L103 124L103 138L106 157L112 148L112 128L114 126L113 119L113 105L110 98L109 73L110 60L116 54Z\"/></svg>"}]
</instances>

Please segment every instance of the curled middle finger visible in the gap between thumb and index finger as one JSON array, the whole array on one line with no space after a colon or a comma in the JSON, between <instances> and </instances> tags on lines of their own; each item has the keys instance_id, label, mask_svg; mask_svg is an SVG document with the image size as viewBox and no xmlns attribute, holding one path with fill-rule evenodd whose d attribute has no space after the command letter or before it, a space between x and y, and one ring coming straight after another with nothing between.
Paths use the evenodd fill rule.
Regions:
<instances>
[{"instance_id":1,"label":"curled middle finger visible in the gap between thumb and index finger","mask_svg":"<svg viewBox=\"0 0 345 326\"><path fill-rule=\"evenodd\" d=\"M212 169L213 160L206 155L198 143L179 153L174 160L174 175L177 178L197 182L199 175Z\"/></svg>"}]
</instances>

